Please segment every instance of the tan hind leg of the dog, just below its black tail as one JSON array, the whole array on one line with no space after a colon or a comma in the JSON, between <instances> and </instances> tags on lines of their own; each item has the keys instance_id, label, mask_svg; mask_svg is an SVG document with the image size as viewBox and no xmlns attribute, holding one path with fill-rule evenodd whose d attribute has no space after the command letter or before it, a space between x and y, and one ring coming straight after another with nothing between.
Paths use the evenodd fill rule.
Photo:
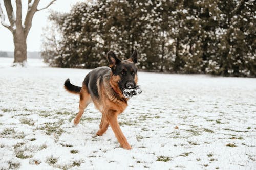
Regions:
<instances>
[{"instance_id":1,"label":"tan hind leg of the dog, just below its black tail","mask_svg":"<svg viewBox=\"0 0 256 170\"><path fill-rule=\"evenodd\" d=\"M74 125L77 125L80 122L84 109L91 102L91 96L87 91L87 87L83 86L80 91L80 101L79 101L79 112L77 113L74 119Z\"/></svg>"}]
</instances>

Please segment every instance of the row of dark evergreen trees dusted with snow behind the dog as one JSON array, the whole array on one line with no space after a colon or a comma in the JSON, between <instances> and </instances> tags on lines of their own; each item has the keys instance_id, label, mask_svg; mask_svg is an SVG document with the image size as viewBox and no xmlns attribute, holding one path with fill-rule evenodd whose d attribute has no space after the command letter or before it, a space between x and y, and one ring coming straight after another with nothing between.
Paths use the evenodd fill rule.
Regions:
<instances>
[{"instance_id":1,"label":"row of dark evergreen trees dusted with snow behind the dog","mask_svg":"<svg viewBox=\"0 0 256 170\"><path fill-rule=\"evenodd\" d=\"M256 76L254 1L80 2L51 12L41 55L54 67L106 65L109 50L141 70Z\"/></svg>"}]
</instances>

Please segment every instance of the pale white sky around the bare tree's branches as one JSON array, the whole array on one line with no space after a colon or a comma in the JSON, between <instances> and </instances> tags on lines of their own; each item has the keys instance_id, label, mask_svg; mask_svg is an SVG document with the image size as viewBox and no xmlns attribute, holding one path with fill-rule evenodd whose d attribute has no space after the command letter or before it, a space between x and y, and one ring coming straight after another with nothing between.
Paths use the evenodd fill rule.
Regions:
<instances>
[{"instance_id":1,"label":"pale white sky around the bare tree's branches","mask_svg":"<svg viewBox=\"0 0 256 170\"><path fill-rule=\"evenodd\" d=\"M32 21L32 27L28 34L27 38L27 50L28 51L40 51L41 48L41 34L42 28L47 25L47 18L49 16L49 9L59 11L59 12L68 12L73 4L81 0L57 0L52 4L48 9L38 11L35 13ZM50 0L41 0L38 9L45 7ZM12 0L13 8L15 8L15 1ZM23 17L27 11L27 0L22 0L23 6ZM4 1L0 0L0 5L4 12L6 12L4 7ZM16 11L16 9L14 9ZM5 22L9 24L8 17L6 15ZM24 22L24 19L23 19ZM13 36L12 33L1 25L0 23L0 51L14 51Z\"/></svg>"}]
</instances>

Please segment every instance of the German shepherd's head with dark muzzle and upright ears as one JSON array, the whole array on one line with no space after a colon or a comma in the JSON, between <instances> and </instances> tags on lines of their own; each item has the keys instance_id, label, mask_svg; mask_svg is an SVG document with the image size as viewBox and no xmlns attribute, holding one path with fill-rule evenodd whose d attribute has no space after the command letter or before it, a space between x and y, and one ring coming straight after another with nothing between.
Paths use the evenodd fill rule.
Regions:
<instances>
[{"instance_id":1,"label":"German shepherd's head with dark muzzle and upright ears","mask_svg":"<svg viewBox=\"0 0 256 170\"><path fill-rule=\"evenodd\" d=\"M119 60L113 51L108 54L109 67L112 70L110 83L117 90L123 93L125 89L135 88L137 86L137 50L135 49L132 56L127 60Z\"/></svg>"}]
</instances>

